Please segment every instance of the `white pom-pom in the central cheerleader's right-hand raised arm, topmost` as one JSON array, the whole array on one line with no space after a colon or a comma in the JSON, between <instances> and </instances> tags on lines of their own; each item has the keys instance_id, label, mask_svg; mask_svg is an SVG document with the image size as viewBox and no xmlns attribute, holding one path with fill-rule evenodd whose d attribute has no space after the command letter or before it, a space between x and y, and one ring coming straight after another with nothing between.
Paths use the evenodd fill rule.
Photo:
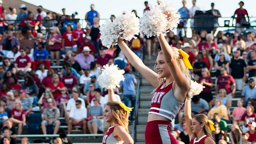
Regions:
<instances>
[{"instance_id":1,"label":"white pom-pom in the central cheerleader's right-hand raised arm, topmost","mask_svg":"<svg viewBox=\"0 0 256 144\"><path fill-rule=\"evenodd\" d=\"M140 18L140 30L147 37L159 36L163 32L177 28L180 23L180 15L171 3L163 1L160 4L149 5L149 8L150 11L145 12Z\"/></svg>"}]
</instances>

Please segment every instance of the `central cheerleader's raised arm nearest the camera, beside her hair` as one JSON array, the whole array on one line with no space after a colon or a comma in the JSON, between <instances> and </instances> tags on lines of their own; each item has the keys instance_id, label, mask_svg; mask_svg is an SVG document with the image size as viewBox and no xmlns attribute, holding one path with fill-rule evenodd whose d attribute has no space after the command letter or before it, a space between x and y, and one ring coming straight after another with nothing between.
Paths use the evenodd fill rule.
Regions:
<instances>
[{"instance_id":1,"label":"central cheerleader's raised arm nearest the camera, beside her hair","mask_svg":"<svg viewBox=\"0 0 256 144\"><path fill-rule=\"evenodd\" d=\"M184 95L186 95L185 93L188 91L188 81L178 66L174 52L172 51L171 46L165 40L163 34L160 34L158 39L164 54L164 59L167 62L167 66L172 74L172 78L179 87L180 91L184 92Z\"/></svg>"}]
</instances>

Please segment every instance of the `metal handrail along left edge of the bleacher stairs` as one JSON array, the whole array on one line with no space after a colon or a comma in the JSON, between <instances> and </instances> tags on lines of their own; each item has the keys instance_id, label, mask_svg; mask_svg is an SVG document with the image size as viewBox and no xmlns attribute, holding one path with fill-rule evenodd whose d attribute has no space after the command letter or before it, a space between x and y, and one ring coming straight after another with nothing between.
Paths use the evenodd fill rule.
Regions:
<instances>
[{"instance_id":1,"label":"metal handrail along left edge of the bleacher stairs","mask_svg":"<svg viewBox=\"0 0 256 144\"><path fill-rule=\"evenodd\" d=\"M141 48L141 55L140 55L140 59L143 60L144 57L144 48ZM134 140L134 144L137 140L137 124L138 124L138 109L140 107L140 86L142 84L141 81L141 74L139 73L139 80L138 80L138 85L137 85L137 94L136 94L136 101L135 101L135 108L134 108L134 114L135 114L135 119L133 120L132 123L132 139Z\"/></svg>"}]
</instances>

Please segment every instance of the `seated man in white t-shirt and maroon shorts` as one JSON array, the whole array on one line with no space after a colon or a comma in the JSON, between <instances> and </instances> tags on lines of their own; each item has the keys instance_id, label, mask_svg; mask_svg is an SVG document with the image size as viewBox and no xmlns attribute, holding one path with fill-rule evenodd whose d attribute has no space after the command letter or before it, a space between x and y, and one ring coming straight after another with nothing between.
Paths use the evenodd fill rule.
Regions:
<instances>
[{"instance_id":1,"label":"seated man in white t-shirt and maroon shorts","mask_svg":"<svg viewBox=\"0 0 256 144\"><path fill-rule=\"evenodd\" d=\"M76 100L76 108L72 108L69 113L68 134L70 134L72 126L82 126L84 134L86 134L86 118L87 109L82 106L81 100Z\"/></svg>"}]
</instances>

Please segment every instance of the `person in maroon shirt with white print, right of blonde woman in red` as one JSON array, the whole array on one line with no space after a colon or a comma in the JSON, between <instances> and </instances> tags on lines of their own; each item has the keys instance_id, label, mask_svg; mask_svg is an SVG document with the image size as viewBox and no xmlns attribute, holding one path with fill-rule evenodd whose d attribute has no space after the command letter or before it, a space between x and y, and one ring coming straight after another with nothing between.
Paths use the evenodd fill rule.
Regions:
<instances>
[{"instance_id":1,"label":"person in maroon shirt with white print, right of blonde woman in red","mask_svg":"<svg viewBox=\"0 0 256 144\"><path fill-rule=\"evenodd\" d=\"M62 77L62 83L68 88L68 92L71 93L72 87L77 84L76 76L71 75L71 69L66 69L66 76Z\"/></svg>"}]
</instances>

